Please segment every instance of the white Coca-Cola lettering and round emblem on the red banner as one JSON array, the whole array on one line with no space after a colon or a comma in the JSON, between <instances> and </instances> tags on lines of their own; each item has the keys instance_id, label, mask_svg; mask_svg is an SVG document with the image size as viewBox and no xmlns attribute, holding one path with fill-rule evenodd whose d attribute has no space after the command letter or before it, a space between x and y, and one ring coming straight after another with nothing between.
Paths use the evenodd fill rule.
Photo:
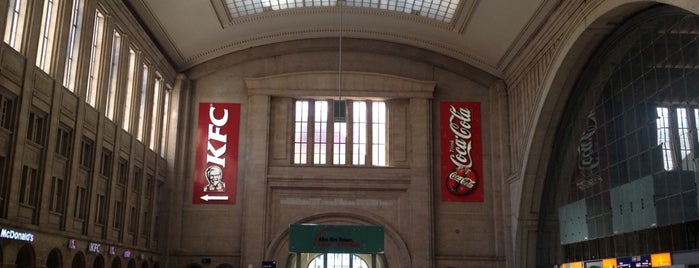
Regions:
<instances>
[{"instance_id":1,"label":"white Coca-Cola lettering and round emblem on the red banner","mask_svg":"<svg viewBox=\"0 0 699 268\"><path fill-rule=\"evenodd\" d=\"M454 134L449 150L449 159L455 168L445 178L447 190L454 195L467 195L478 187L479 175L473 167L471 157L471 110L449 106L449 129Z\"/></svg>"}]
</instances>

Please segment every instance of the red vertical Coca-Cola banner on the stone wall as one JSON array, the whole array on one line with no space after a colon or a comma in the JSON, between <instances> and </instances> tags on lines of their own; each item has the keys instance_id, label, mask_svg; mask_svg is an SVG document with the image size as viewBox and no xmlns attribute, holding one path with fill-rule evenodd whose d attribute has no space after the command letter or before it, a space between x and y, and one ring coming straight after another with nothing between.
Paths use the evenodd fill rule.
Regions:
<instances>
[{"instance_id":1,"label":"red vertical Coca-Cola banner on the stone wall","mask_svg":"<svg viewBox=\"0 0 699 268\"><path fill-rule=\"evenodd\" d=\"M439 106L442 201L483 202L483 144L478 102Z\"/></svg>"}]
</instances>

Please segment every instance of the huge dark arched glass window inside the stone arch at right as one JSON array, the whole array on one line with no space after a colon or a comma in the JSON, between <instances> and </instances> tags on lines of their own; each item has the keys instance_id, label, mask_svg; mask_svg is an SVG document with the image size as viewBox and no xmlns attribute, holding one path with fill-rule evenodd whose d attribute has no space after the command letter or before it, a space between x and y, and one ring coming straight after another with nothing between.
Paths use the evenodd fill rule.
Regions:
<instances>
[{"instance_id":1,"label":"huge dark arched glass window inside the stone arch at right","mask_svg":"<svg viewBox=\"0 0 699 268\"><path fill-rule=\"evenodd\" d=\"M563 109L539 265L699 249L699 16L656 6L590 58Z\"/></svg>"}]
</instances>

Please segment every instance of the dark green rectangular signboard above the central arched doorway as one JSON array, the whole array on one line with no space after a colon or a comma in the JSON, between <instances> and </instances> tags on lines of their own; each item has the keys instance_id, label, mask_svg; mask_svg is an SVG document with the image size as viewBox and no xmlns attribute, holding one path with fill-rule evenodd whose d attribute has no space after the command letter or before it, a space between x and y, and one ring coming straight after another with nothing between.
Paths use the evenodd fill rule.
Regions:
<instances>
[{"instance_id":1,"label":"dark green rectangular signboard above the central arched doorway","mask_svg":"<svg viewBox=\"0 0 699 268\"><path fill-rule=\"evenodd\" d=\"M383 226L292 224L289 252L383 253Z\"/></svg>"}]
</instances>

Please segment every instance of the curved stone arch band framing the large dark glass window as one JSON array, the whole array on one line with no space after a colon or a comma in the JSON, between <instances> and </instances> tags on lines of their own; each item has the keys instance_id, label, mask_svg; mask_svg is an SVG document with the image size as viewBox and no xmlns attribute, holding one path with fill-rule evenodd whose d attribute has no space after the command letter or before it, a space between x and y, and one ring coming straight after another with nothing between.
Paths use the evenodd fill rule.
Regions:
<instances>
[{"instance_id":1,"label":"curved stone arch band framing the large dark glass window","mask_svg":"<svg viewBox=\"0 0 699 268\"><path fill-rule=\"evenodd\" d=\"M657 2L665 2L695 14L699 13L698 7L690 6L684 2L683 4L675 4L666 0ZM539 95L532 96L531 103L525 104L529 107L535 107L532 109L534 120L530 124L531 128L522 132L521 136L511 137L512 139L526 138L527 140L523 142L523 148L513 149L513 152L518 151L516 153L518 155L513 156L515 161L519 162L515 166L519 166L520 169L515 170L515 174L508 180L512 198L510 202L513 204L510 208L512 210L512 241L514 241L511 246L514 247L512 252L515 254L508 266L536 267L538 213L543 197L547 166L551 157L553 137L561 120L562 111L565 109L565 100L570 96L585 62L603 38L614 30L613 25L652 4L654 3L647 1L621 0L604 1L589 9L581 8L586 10L581 15L585 17L584 22L570 20L579 22L579 24L570 25L566 36L560 37L560 42L550 42L545 47L535 48L541 50L542 55L553 54L550 60L530 59L531 62L526 67L534 70L539 67L538 64L546 66L542 68L546 75L537 77L538 84L532 83L539 88L508 89L510 92L527 91L528 94L541 92ZM553 40L559 37L540 36L539 38Z\"/></svg>"}]
</instances>

